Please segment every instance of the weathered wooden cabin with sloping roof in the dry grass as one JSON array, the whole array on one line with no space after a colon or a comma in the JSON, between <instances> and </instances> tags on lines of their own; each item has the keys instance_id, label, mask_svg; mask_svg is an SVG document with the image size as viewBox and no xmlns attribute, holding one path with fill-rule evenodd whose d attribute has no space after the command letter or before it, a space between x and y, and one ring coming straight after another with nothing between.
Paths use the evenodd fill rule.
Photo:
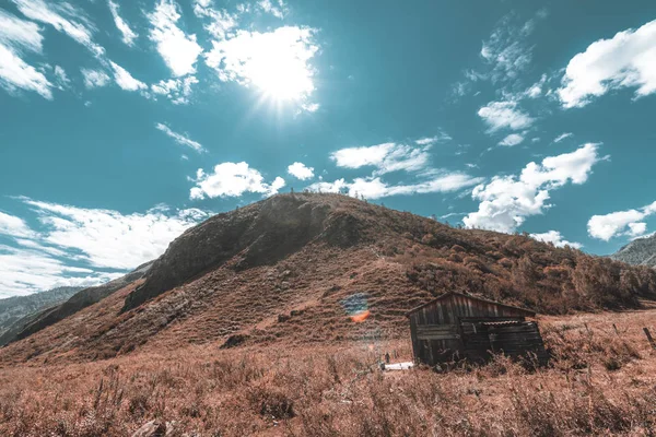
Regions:
<instances>
[{"instance_id":1,"label":"weathered wooden cabin with sloping roof in the dry grass","mask_svg":"<svg viewBox=\"0 0 656 437\"><path fill-rule=\"evenodd\" d=\"M434 366L466 358L481 363L492 353L535 354L548 361L535 312L449 292L409 311L414 361Z\"/></svg>"}]
</instances>

